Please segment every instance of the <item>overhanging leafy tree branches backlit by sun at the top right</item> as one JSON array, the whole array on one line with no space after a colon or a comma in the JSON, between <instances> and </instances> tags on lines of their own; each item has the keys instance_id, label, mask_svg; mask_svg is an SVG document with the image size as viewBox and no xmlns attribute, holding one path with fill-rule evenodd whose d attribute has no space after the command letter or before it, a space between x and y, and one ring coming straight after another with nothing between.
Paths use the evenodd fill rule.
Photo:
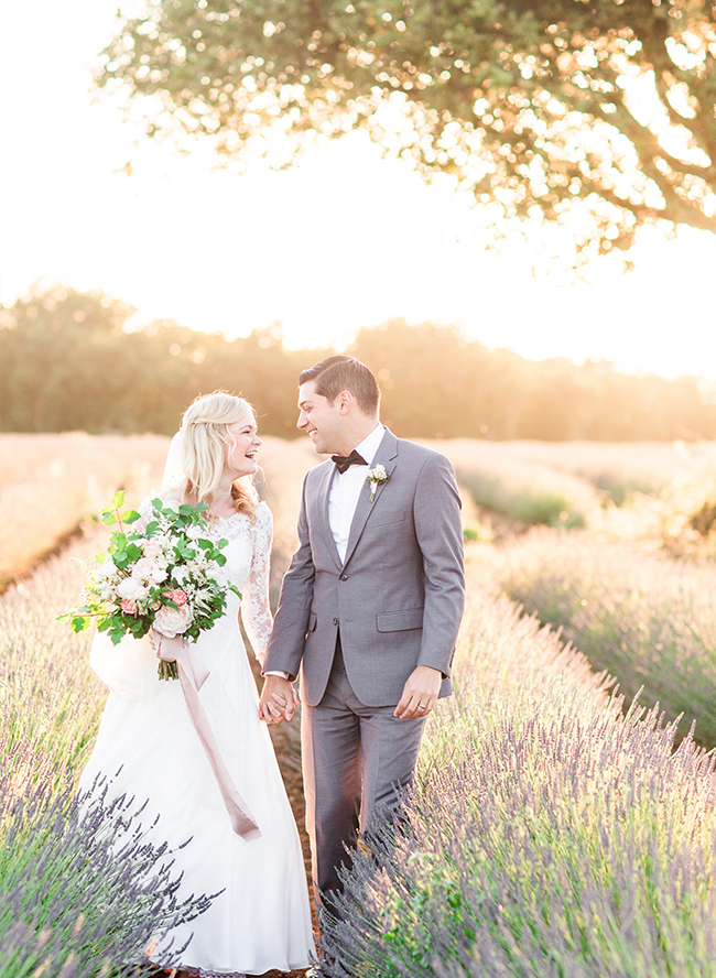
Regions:
<instances>
[{"instance_id":1,"label":"overhanging leafy tree branches backlit by sun at the top right","mask_svg":"<svg viewBox=\"0 0 716 978\"><path fill-rule=\"evenodd\" d=\"M713 0L155 0L98 80L234 157L364 127L585 254L716 231Z\"/></svg>"}]
</instances>

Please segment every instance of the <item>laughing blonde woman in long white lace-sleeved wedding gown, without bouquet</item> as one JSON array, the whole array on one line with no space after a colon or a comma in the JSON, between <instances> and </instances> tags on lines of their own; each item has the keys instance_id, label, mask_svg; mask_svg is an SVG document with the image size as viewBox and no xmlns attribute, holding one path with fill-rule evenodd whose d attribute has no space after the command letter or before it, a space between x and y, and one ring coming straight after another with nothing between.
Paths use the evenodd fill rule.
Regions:
<instances>
[{"instance_id":1,"label":"laughing blonde woman in long white lace-sleeved wedding gown, without bouquet","mask_svg":"<svg viewBox=\"0 0 716 978\"><path fill-rule=\"evenodd\" d=\"M188 941L180 975L227 978L290 971L307 967L314 957L299 834L269 732L259 719L237 621L240 604L261 661L272 623L272 520L252 485L260 445L247 401L221 391L200 396L186 410L170 449L167 475L174 466L180 481L162 493L170 504L208 503L205 533L229 541L221 570L242 600L228 591L226 613L189 650L199 669L208 670L198 699L221 770L258 832L252 826L238 834L227 811L225 785L199 738L181 683L156 675L153 645L161 640L165 658L172 642L181 640L150 633L112 645L98 633L90 653L110 694L80 791L90 792L105 779L107 801L126 795L138 808L147 802L141 819L148 841L167 841L174 870L183 872L178 898L218 894L205 913L162 935L148 952L161 967L169 960L170 946L174 952ZM176 466L177 458L172 458L180 450ZM148 512L149 501L140 508L144 521Z\"/></svg>"}]
</instances>

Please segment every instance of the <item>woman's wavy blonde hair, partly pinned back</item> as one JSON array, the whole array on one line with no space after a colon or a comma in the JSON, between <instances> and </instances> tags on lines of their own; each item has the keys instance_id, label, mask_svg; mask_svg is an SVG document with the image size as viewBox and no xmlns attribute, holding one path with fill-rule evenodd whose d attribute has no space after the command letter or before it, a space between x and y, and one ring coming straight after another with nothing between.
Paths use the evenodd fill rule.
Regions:
<instances>
[{"instance_id":1,"label":"woman's wavy blonde hair, partly pinned back","mask_svg":"<svg viewBox=\"0 0 716 978\"><path fill-rule=\"evenodd\" d=\"M182 417L182 468L186 476L184 496L187 500L206 502L209 507L224 475L227 452L234 439L229 425L250 414L253 408L243 398L227 391L202 394ZM236 511L253 517L259 495L253 476L242 476L231 486Z\"/></svg>"}]
</instances>

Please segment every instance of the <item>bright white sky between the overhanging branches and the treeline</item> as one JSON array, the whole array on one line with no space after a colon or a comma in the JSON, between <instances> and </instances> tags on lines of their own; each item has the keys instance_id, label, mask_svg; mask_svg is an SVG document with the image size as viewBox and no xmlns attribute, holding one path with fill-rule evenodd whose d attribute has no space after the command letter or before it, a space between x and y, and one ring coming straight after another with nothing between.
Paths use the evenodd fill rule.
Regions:
<instances>
[{"instance_id":1,"label":"bright white sky between the overhanging branches and the treeline","mask_svg":"<svg viewBox=\"0 0 716 978\"><path fill-rule=\"evenodd\" d=\"M535 278L522 248L487 253L442 187L361 137L289 172L213 172L207 153L142 143L90 93L118 0L4 6L0 34L0 300L37 280L100 289L195 329L281 319L293 347L348 341L391 317L460 325L487 346L606 358L716 380L716 236L644 237L636 271ZM123 172L132 159L131 176Z\"/></svg>"}]
</instances>

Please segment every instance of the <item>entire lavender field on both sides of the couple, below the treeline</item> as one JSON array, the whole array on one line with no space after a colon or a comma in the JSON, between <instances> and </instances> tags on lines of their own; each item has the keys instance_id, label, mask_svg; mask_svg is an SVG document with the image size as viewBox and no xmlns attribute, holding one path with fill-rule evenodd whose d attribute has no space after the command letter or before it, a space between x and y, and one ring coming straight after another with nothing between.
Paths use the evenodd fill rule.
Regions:
<instances>
[{"instance_id":1,"label":"entire lavender field on both sides of the couple, below the treeline","mask_svg":"<svg viewBox=\"0 0 716 978\"><path fill-rule=\"evenodd\" d=\"M18 458L41 448L52 465L51 436L25 437ZM133 491L156 483L164 445L134 466ZM693 721L699 745L716 743L707 446L680 450L671 481L673 446L609 446L615 485L636 479L638 457L640 485L658 487L625 492L619 507L594 476L606 481L604 446L592 475L584 446L572 465L569 446L444 447L466 531L499 519L501 534L468 544L456 695L428 724L404 830L386 829L383 858L359 858L348 879L329 974L716 976L716 775L687 736ZM64 470L75 500L73 486L105 483L94 468L102 458ZM26 498L33 469L20 460L3 491L22 483ZM274 598L315 460L303 442L270 438L262 452ZM119 469L108 488L127 479ZM47 470L35 471L43 485ZM23 492L4 498L21 506ZM200 894L197 905L174 904L166 854L141 849L131 811L97 811L89 829L77 819L73 789L105 692L87 637L55 621L82 585L79 561L102 546L91 506L74 506L86 535L0 597L0 978L121 974L163 922L200 911ZM2 521L12 513L3 507ZM26 521L31 539L36 524ZM39 526L37 553L47 539ZM280 749L295 751L294 740ZM120 818L123 857L112 863Z\"/></svg>"}]
</instances>

